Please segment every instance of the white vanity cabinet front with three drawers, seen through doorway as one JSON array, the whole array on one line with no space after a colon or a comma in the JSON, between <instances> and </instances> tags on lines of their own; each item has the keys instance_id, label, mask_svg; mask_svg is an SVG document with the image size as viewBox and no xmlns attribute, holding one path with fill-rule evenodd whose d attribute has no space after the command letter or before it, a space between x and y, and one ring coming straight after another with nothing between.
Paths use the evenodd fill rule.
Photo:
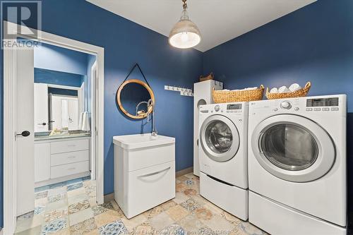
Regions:
<instances>
[{"instance_id":1,"label":"white vanity cabinet front with three drawers, seen through doorway","mask_svg":"<svg viewBox=\"0 0 353 235\"><path fill-rule=\"evenodd\" d=\"M90 175L90 137L35 141L35 186Z\"/></svg>"}]
</instances>

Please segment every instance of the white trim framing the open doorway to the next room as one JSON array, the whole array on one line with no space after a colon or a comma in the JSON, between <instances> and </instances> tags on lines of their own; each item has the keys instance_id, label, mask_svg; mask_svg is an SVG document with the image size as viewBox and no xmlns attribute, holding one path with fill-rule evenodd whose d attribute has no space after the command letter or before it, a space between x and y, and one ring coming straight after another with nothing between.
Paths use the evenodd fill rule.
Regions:
<instances>
[{"instance_id":1,"label":"white trim framing the open doorway to the next room","mask_svg":"<svg viewBox=\"0 0 353 235\"><path fill-rule=\"evenodd\" d=\"M25 27L9 23L4 20L4 25L13 32L14 37L26 37L19 32L25 32ZM21 30L17 30L18 27ZM96 126L97 151L96 181L97 203L104 203L104 48L85 42L71 40L66 37L37 31L38 40L59 47L73 49L79 52L95 54L97 56L97 82L98 82L98 126ZM8 31L9 32L9 31ZM16 107L16 49L4 49L4 234L13 234L16 229L16 145L14 143L14 119ZM95 123L92 123L92 126ZM92 152L92 154L95 154Z\"/></svg>"}]
</instances>

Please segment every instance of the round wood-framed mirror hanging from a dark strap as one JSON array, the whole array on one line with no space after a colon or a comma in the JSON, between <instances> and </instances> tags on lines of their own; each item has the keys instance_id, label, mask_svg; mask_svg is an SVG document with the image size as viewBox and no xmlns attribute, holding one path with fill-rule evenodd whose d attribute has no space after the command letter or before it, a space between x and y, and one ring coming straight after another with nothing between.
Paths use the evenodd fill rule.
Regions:
<instances>
[{"instance_id":1,"label":"round wood-framed mirror hanging from a dark strap","mask_svg":"<svg viewBox=\"0 0 353 235\"><path fill-rule=\"evenodd\" d=\"M155 95L146 83L138 79L126 80L116 94L116 100L121 112L131 119L144 119L152 112L148 100L155 103Z\"/></svg>"}]
</instances>

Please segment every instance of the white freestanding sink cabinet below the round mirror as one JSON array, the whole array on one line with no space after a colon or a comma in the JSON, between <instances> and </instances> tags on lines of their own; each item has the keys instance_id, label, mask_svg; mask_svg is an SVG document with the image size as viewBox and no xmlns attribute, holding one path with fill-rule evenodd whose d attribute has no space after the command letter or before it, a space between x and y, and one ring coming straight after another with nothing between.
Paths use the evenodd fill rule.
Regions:
<instances>
[{"instance_id":1,"label":"white freestanding sink cabinet below the round mirror","mask_svg":"<svg viewBox=\"0 0 353 235\"><path fill-rule=\"evenodd\" d=\"M175 138L114 136L114 198L129 219L175 198Z\"/></svg>"}]
</instances>

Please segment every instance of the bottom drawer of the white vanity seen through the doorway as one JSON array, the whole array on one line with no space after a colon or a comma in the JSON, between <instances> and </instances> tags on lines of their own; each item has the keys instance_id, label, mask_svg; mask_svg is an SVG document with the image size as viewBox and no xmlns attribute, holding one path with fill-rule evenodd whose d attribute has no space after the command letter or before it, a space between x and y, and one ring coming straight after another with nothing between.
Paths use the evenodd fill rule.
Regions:
<instances>
[{"instance_id":1,"label":"bottom drawer of the white vanity seen through the doorway","mask_svg":"<svg viewBox=\"0 0 353 235\"><path fill-rule=\"evenodd\" d=\"M50 178L58 178L61 176L69 176L71 174L78 174L81 172L89 171L90 161L76 162L71 164L64 164L50 168Z\"/></svg>"}]
</instances>

